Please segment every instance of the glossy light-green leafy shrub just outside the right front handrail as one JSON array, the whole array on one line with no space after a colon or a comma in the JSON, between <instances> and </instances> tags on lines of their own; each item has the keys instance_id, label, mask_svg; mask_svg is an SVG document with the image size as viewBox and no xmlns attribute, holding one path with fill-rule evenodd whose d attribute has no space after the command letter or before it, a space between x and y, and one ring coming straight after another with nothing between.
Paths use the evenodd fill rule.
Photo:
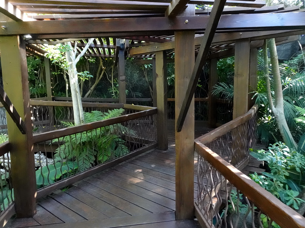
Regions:
<instances>
[{"instance_id":1,"label":"glossy light-green leafy shrub just outside the right front handrail","mask_svg":"<svg viewBox=\"0 0 305 228\"><path fill-rule=\"evenodd\" d=\"M267 151L250 150L253 157L266 161L270 168L270 173L249 174L251 179L288 206L299 209L300 204L305 202L297 197L305 183L305 156L281 142L270 144Z\"/></svg>"}]
</instances>

